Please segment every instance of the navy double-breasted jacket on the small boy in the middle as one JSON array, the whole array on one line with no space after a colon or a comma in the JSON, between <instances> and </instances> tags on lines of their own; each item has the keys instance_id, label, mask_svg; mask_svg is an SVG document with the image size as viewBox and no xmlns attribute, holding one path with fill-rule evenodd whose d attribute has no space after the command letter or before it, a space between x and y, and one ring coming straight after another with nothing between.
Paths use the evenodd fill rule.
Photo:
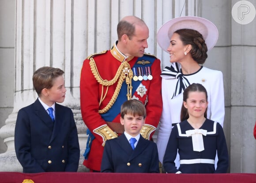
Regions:
<instances>
[{"instance_id":1,"label":"navy double-breasted jacket on the small boy in the middle","mask_svg":"<svg viewBox=\"0 0 256 183\"><path fill-rule=\"evenodd\" d=\"M135 150L124 134L107 140L101 172L159 173L157 146L141 135Z\"/></svg>"}]
</instances>

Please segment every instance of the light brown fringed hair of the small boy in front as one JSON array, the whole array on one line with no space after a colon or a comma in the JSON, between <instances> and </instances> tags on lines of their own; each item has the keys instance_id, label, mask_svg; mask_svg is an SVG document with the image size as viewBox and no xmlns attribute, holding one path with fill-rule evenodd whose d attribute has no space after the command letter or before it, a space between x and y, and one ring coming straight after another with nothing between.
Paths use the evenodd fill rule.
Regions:
<instances>
[{"instance_id":1,"label":"light brown fringed hair of the small boy in front","mask_svg":"<svg viewBox=\"0 0 256 183\"><path fill-rule=\"evenodd\" d=\"M137 99L131 99L124 102L121 106L121 117L124 119L125 114L132 114L133 116L147 116L146 108L143 103Z\"/></svg>"}]
</instances>

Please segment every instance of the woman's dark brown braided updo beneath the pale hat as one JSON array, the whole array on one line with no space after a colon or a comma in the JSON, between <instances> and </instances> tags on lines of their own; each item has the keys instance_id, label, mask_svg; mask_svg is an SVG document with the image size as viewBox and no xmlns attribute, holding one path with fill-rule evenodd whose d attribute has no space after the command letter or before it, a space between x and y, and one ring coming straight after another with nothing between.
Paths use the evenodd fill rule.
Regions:
<instances>
[{"instance_id":1,"label":"woman's dark brown braided updo beneath the pale hat","mask_svg":"<svg viewBox=\"0 0 256 183\"><path fill-rule=\"evenodd\" d=\"M199 64L203 64L207 59L207 45L202 34L193 29L179 29L174 33L179 34L183 45L191 44L190 54L192 58Z\"/></svg>"}]
</instances>

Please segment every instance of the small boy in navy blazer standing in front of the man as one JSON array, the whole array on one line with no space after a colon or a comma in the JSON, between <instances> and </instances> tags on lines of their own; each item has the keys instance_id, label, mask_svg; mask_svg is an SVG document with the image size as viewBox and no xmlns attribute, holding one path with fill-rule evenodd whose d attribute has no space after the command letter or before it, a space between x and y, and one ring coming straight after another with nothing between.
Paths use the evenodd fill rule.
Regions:
<instances>
[{"instance_id":1,"label":"small boy in navy blazer standing in front of the man","mask_svg":"<svg viewBox=\"0 0 256 183\"><path fill-rule=\"evenodd\" d=\"M159 173L157 146L139 133L146 118L143 103L137 99L124 102L120 115L124 133L106 141L101 172Z\"/></svg>"}]
</instances>

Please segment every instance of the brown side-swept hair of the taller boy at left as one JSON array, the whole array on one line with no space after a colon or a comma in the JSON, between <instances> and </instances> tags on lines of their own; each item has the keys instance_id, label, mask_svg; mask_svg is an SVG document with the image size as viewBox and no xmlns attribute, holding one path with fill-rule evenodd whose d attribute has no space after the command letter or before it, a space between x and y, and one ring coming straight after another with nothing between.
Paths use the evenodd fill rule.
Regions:
<instances>
[{"instance_id":1,"label":"brown side-swept hair of the taller boy at left","mask_svg":"<svg viewBox=\"0 0 256 183\"><path fill-rule=\"evenodd\" d=\"M42 89L50 89L53 87L53 80L56 77L62 76L64 71L59 68L41 67L33 74L33 86L38 93L41 94Z\"/></svg>"}]
</instances>

